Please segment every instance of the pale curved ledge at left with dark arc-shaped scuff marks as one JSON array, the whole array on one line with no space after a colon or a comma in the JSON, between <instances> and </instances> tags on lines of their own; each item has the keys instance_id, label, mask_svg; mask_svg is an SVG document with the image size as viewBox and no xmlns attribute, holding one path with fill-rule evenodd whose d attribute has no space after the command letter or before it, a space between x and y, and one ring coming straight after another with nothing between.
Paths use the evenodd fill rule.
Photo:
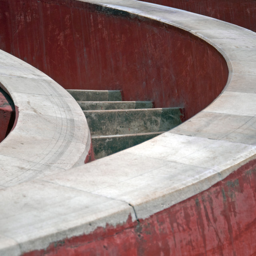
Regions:
<instances>
[{"instance_id":1,"label":"pale curved ledge at left with dark arc-shaped scuff marks","mask_svg":"<svg viewBox=\"0 0 256 256\"><path fill-rule=\"evenodd\" d=\"M3 51L0 86L18 112L16 126L0 143L0 186L14 186L84 163L90 132L82 110L66 90Z\"/></svg>"}]
</instances>

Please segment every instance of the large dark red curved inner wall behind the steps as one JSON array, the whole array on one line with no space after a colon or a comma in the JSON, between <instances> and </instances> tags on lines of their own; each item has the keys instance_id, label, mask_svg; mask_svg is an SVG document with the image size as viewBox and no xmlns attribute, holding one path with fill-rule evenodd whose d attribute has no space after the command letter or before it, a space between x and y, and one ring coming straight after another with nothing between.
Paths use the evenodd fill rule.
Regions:
<instances>
[{"instance_id":1,"label":"large dark red curved inner wall behind the steps","mask_svg":"<svg viewBox=\"0 0 256 256\"><path fill-rule=\"evenodd\" d=\"M0 48L64 88L122 89L124 100L185 108L186 118L228 77L224 58L188 32L74 0L0 0Z\"/></svg>"}]
</instances>

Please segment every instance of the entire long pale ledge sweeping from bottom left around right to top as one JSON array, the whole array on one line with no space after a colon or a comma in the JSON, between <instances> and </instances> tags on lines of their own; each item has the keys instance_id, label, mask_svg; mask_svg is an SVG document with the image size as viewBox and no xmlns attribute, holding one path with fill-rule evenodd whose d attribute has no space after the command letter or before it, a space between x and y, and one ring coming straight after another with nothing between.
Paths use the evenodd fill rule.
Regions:
<instances>
[{"instance_id":1,"label":"entire long pale ledge sweeping from bottom left around right to top","mask_svg":"<svg viewBox=\"0 0 256 256\"><path fill-rule=\"evenodd\" d=\"M146 2L86 2L166 22L203 38L226 58L228 83L210 106L152 140L72 170L3 188L2 255L46 248L98 226L125 223L128 216L147 218L206 190L256 156L256 33ZM15 202L10 203L12 198Z\"/></svg>"}]
</instances>

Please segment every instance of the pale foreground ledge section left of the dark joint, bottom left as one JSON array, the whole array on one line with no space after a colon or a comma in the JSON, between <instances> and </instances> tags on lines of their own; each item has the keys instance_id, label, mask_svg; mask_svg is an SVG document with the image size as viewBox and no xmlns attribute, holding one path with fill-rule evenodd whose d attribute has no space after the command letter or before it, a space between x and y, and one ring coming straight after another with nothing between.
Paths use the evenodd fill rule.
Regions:
<instances>
[{"instance_id":1,"label":"pale foreground ledge section left of the dark joint, bottom left","mask_svg":"<svg viewBox=\"0 0 256 256\"><path fill-rule=\"evenodd\" d=\"M122 224L129 215L135 220L132 207L125 202L39 180L2 190L0 208L1 232L15 239L20 252L47 247L50 241L90 232L106 223Z\"/></svg>"}]
</instances>

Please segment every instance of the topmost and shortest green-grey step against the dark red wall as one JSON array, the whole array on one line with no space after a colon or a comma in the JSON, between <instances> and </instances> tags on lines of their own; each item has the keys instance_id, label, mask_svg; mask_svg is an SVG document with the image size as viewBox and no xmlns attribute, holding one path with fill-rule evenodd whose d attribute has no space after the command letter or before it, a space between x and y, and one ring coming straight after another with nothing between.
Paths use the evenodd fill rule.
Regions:
<instances>
[{"instance_id":1,"label":"topmost and shortest green-grey step against the dark red wall","mask_svg":"<svg viewBox=\"0 0 256 256\"><path fill-rule=\"evenodd\" d=\"M118 90L67 90L76 101L121 101L122 94Z\"/></svg>"}]
</instances>

